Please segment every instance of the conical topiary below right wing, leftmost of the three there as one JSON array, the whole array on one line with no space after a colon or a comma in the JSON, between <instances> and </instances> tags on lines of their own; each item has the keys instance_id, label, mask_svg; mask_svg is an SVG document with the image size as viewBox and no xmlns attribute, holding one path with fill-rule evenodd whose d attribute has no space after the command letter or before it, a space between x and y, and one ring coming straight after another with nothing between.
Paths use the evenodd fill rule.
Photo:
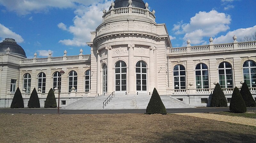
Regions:
<instances>
[{"instance_id":1,"label":"conical topiary below right wing, leftmost of the three there","mask_svg":"<svg viewBox=\"0 0 256 143\"><path fill-rule=\"evenodd\" d=\"M213 93L212 93L212 100L211 100L211 104L212 107L227 107L228 106L228 102L227 99L220 87L220 84L217 83Z\"/></svg>"}]
</instances>

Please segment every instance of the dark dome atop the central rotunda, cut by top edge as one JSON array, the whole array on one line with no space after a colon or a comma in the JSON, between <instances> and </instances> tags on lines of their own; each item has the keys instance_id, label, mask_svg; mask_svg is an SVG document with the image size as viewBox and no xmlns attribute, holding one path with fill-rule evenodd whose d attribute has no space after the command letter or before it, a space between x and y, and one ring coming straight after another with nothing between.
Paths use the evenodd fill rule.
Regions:
<instances>
[{"instance_id":1,"label":"dark dome atop the central rotunda, cut by top edge","mask_svg":"<svg viewBox=\"0 0 256 143\"><path fill-rule=\"evenodd\" d=\"M120 7L128 7L129 3L128 0L115 0L114 1L115 6L114 8L120 8ZM132 0L132 7L138 7L138 8L143 8L146 9L145 3L143 0ZM109 10L112 8L112 6L109 7Z\"/></svg>"}]
</instances>

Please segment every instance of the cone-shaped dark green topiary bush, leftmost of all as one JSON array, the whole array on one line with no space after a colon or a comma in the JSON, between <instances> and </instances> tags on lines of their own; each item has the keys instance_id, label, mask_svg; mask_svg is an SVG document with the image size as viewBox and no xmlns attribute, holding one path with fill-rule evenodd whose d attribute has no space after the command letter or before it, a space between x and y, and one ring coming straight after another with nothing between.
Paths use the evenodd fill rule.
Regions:
<instances>
[{"instance_id":1,"label":"cone-shaped dark green topiary bush, leftmost of all","mask_svg":"<svg viewBox=\"0 0 256 143\"><path fill-rule=\"evenodd\" d=\"M24 102L19 87L16 89L14 93L11 108L24 108Z\"/></svg>"}]
</instances>

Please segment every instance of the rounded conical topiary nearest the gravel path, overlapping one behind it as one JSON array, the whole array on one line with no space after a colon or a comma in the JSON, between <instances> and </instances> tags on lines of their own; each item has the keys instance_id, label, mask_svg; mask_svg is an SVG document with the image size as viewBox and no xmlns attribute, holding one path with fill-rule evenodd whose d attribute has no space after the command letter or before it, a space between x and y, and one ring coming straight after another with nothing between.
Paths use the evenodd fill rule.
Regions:
<instances>
[{"instance_id":1,"label":"rounded conical topiary nearest the gravel path, overlapping one behind it","mask_svg":"<svg viewBox=\"0 0 256 143\"><path fill-rule=\"evenodd\" d=\"M232 98L229 105L229 110L233 113L244 113L246 112L246 105L244 103L243 97L239 92L239 89L235 87Z\"/></svg>"}]
</instances>

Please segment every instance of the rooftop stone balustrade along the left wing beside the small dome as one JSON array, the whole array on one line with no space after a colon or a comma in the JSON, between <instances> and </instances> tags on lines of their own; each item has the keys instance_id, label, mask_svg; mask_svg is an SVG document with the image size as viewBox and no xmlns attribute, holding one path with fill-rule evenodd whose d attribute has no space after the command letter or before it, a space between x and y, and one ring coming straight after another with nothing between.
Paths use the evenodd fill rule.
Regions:
<instances>
[{"instance_id":1,"label":"rooftop stone balustrade along the left wing beside the small dome","mask_svg":"<svg viewBox=\"0 0 256 143\"><path fill-rule=\"evenodd\" d=\"M48 57L48 58L34 58L20 60L20 64L30 63L47 63L47 62L60 62L60 61L84 61L91 59L91 55L78 55L78 56L63 56L63 57Z\"/></svg>"}]
</instances>

